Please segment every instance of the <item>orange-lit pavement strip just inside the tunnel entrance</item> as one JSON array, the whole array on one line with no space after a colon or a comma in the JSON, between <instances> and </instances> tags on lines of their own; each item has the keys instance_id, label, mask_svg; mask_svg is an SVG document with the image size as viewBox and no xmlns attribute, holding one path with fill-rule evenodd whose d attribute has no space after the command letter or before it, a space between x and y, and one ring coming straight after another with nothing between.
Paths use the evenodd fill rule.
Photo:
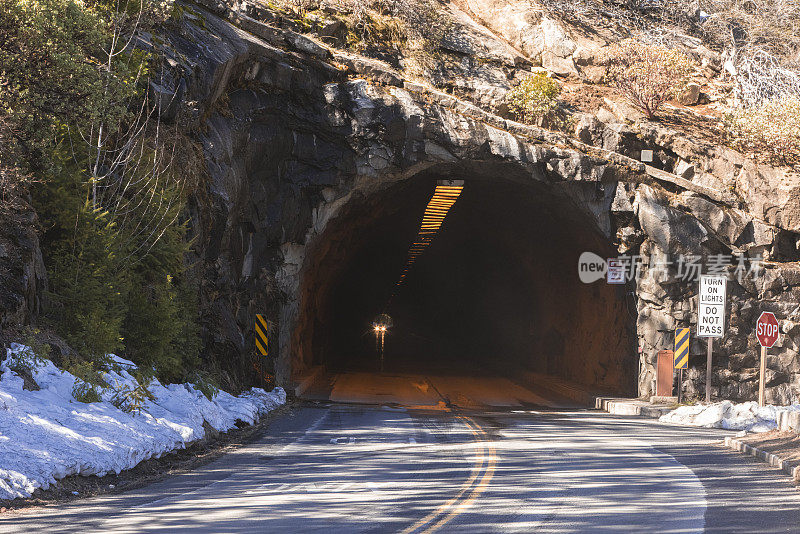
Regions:
<instances>
[{"instance_id":1,"label":"orange-lit pavement strip just inside the tunnel entrance","mask_svg":"<svg viewBox=\"0 0 800 534\"><path fill-rule=\"evenodd\" d=\"M574 386L578 387L578 386ZM301 397L341 403L400 405L421 409L567 408L563 393L502 376L320 370L307 379Z\"/></svg>"}]
</instances>

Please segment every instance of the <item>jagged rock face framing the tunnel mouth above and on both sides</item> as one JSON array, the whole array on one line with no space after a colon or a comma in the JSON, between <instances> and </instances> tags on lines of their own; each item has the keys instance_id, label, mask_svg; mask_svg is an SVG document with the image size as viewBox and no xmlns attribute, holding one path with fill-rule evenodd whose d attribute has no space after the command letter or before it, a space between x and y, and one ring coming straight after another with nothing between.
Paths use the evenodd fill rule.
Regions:
<instances>
[{"instance_id":1,"label":"jagged rock face framing the tunnel mouth above and on both sides","mask_svg":"<svg viewBox=\"0 0 800 534\"><path fill-rule=\"evenodd\" d=\"M297 367L311 363L295 354L306 350L297 325L304 320L302 279L313 268L309 250L320 246L332 219L354 200L422 173L484 180L502 174L557 190L592 221L587 231L643 260L629 286L639 372L635 354L621 357L632 386L616 387L638 383L639 393L651 393L655 353L671 345L675 327L695 320L696 283L682 281L674 264L666 273L657 270L659 261L729 255L720 268L733 276L735 254L744 255L748 269L748 258L762 254L771 261L763 276L732 282L713 385L721 395L749 398L756 354L749 324L767 309L784 319L786 331L769 361L768 398L797 400L796 175L732 151L698 153L664 130L631 131L614 121L582 121L582 142L523 126L404 82L380 62L331 50L240 11L213 9L222 17L187 8L166 35L174 66L159 86L161 94L176 95L173 120L196 132L208 161L207 196L197 199L193 217L207 352L246 362L253 315L265 313L279 347L278 379L291 383L302 370ZM590 64L576 59L579 47L561 41L561 48L550 47L563 52L560 60ZM648 145L659 147L666 181L626 157L638 157ZM764 185L772 180L782 184L777 199ZM705 376L699 342L692 354L683 385L689 393L702 389ZM232 370L248 372L244 363ZM603 378L596 380L602 384Z\"/></svg>"}]
</instances>

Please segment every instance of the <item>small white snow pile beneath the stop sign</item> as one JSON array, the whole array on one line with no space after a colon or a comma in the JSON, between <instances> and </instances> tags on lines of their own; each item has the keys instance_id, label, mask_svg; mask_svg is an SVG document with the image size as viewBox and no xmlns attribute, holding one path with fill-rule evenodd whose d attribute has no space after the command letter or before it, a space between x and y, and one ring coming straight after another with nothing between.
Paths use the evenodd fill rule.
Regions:
<instances>
[{"instance_id":1,"label":"small white snow pile beneath the stop sign","mask_svg":"<svg viewBox=\"0 0 800 534\"><path fill-rule=\"evenodd\" d=\"M705 428L768 432L778 427L778 413L800 412L800 404L791 406L759 406L757 402L731 401L714 404L681 406L662 415L659 421Z\"/></svg>"}]
</instances>

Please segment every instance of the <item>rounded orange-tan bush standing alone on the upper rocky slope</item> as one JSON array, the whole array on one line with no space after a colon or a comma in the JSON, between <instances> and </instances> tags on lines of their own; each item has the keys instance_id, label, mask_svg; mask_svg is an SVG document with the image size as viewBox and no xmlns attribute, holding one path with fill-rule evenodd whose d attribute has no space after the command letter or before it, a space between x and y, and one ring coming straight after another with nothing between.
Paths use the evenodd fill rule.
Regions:
<instances>
[{"instance_id":1,"label":"rounded orange-tan bush standing alone on the upper rocky slope","mask_svg":"<svg viewBox=\"0 0 800 534\"><path fill-rule=\"evenodd\" d=\"M606 57L608 77L650 119L689 81L692 62L678 50L627 39Z\"/></svg>"}]
</instances>

